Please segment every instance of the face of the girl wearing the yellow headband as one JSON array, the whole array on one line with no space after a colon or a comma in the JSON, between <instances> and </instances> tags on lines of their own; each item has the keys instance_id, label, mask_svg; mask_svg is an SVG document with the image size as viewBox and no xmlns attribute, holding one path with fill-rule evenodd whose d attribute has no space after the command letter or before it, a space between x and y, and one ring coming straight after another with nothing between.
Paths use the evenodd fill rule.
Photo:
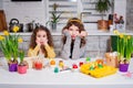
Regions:
<instances>
[{"instance_id":1,"label":"face of the girl wearing the yellow headband","mask_svg":"<svg viewBox=\"0 0 133 88\"><path fill-rule=\"evenodd\" d=\"M70 35L71 35L72 40L75 40L75 36L79 35L79 30L80 29L75 25L72 25L72 26L69 28L69 32L70 32Z\"/></svg>"}]
</instances>

